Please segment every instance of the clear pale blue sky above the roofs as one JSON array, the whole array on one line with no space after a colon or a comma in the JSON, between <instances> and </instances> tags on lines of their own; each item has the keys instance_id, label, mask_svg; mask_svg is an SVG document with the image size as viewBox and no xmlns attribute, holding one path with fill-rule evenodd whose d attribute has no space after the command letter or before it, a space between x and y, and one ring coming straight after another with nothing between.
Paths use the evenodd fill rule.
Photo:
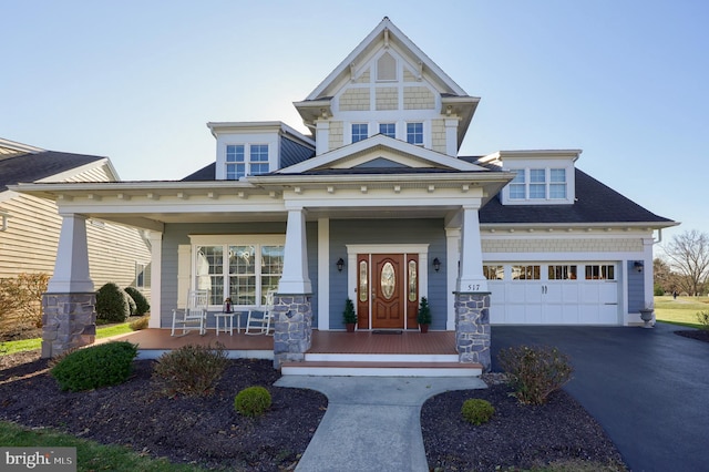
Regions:
<instances>
[{"instance_id":1,"label":"clear pale blue sky above the roofs","mask_svg":"<svg viewBox=\"0 0 709 472\"><path fill-rule=\"evenodd\" d=\"M208 121L305 131L291 103L384 16L482 98L461 154L583 148L682 222L666 238L709 233L705 0L0 0L0 137L181 178L215 158Z\"/></svg>"}]
</instances>

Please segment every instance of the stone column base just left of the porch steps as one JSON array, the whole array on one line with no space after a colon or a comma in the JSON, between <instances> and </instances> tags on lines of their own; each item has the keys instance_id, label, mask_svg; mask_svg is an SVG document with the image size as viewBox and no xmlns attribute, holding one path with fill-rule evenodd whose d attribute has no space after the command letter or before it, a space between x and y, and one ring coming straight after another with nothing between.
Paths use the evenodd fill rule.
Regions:
<instances>
[{"instance_id":1,"label":"stone column base just left of the porch steps","mask_svg":"<svg viewBox=\"0 0 709 472\"><path fill-rule=\"evenodd\" d=\"M301 362L312 345L309 295L278 295L274 300L274 368L285 361Z\"/></svg>"}]
</instances>

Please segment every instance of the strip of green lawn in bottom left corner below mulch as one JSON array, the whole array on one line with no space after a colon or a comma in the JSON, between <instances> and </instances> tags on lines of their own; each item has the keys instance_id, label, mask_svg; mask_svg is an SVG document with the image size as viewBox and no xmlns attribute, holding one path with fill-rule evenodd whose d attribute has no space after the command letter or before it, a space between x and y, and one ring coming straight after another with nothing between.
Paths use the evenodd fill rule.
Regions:
<instances>
[{"instance_id":1,"label":"strip of green lawn in bottom left corner below mulch","mask_svg":"<svg viewBox=\"0 0 709 472\"><path fill-rule=\"evenodd\" d=\"M49 429L28 429L0 422L0 444L6 448L76 448L78 471L198 472L196 465L174 464L152 459L120 445L103 445Z\"/></svg>"}]
</instances>

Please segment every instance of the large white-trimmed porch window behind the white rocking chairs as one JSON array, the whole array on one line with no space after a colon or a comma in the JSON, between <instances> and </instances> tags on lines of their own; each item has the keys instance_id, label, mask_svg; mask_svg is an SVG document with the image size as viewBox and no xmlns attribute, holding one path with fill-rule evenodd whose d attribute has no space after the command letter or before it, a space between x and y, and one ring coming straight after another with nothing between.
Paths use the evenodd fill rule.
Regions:
<instances>
[{"instance_id":1,"label":"large white-trimmed porch window behind the white rocking chairs","mask_svg":"<svg viewBox=\"0 0 709 472\"><path fill-rule=\"evenodd\" d=\"M195 287L209 290L209 305L264 306L282 276L282 244L195 245L194 254Z\"/></svg>"}]
</instances>

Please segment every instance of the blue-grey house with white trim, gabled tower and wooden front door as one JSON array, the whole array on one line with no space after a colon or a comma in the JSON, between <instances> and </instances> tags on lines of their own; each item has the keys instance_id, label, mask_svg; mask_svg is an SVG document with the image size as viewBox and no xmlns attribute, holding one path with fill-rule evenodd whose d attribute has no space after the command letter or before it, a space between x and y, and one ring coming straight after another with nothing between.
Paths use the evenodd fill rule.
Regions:
<instances>
[{"instance_id":1,"label":"blue-grey house with white trim, gabled tower and wooden front door","mask_svg":"<svg viewBox=\"0 0 709 472\"><path fill-rule=\"evenodd\" d=\"M417 329L425 296L431 329L485 366L491 324L639 324L654 232L676 223L578 171L579 150L459 156L479 100L384 18L295 103L312 137L208 123L215 163L183 181L17 189L59 202L66 244L92 217L152 232L152 327L189 288L213 311L276 290L277 366L312 328L343 329L347 298L358 329ZM60 264L50 285L69 299L89 276Z\"/></svg>"}]
</instances>

